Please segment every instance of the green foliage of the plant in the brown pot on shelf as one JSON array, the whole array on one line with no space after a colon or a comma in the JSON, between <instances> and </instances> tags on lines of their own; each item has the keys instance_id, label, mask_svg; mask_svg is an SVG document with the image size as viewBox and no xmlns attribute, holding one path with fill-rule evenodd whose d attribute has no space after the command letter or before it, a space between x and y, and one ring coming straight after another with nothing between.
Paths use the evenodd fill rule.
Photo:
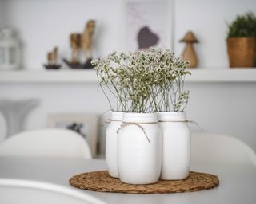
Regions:
<instances>
[{"instance_id":1,"label":"green foliage of the plant in the brown pot on shelf","mask_svg":"<svg viewBox=\"0 0 256 204\"><path fill-rule=\"evenodd\" d=\"M228 26L228 37L256 37L256 17L252 12L238 15Z\"/></svg>"}]
</instances>

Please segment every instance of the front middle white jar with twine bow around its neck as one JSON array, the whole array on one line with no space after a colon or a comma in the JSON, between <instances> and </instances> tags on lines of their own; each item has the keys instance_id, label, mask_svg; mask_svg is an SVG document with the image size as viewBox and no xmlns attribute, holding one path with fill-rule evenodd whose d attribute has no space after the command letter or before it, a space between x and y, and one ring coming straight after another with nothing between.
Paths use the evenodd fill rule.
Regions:
<instances>
[{"instance_id":1,"label":"front middle white jar with twine bow around its neck","mask_svg":"<svg viewBox=\"0 0 256 204\"><path fill-rule=\"evenodd\" d=\"M162 165L162 131L154 113L124 113L118 131L118 172L122 182L158 182Z\"/></svg>"}]
</instances>

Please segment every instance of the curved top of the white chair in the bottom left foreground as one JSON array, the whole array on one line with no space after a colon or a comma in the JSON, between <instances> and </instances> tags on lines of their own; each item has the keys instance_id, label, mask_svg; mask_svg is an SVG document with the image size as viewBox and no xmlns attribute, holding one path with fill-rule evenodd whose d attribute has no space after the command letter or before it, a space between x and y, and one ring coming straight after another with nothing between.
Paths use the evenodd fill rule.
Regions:
<instances>
[{"instance_id":1,"label":"curved top of the white chair in the bottom left foreground","mask_svg":"<svg viewBox=\"0 0 256 204\"><path fill-rule=\"evenodd\" d=\"M90 194L48 182L0 178L0 203L106 204Z\"/></svg>"}]
</instances>

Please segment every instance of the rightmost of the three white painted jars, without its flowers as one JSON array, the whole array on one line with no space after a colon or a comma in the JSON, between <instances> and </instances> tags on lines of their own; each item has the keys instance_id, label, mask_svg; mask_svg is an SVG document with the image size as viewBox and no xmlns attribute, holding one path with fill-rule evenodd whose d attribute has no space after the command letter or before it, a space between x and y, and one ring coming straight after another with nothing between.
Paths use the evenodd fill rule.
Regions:
<instances>
[{"instance_id":1,"label":"rightmost of the three white painted jars, without its flowers","mask_svg":"<svg viewBox=\"0 0 256 204\"><path fill-rule=\"evenodd\" d=\"M186 179L190 172L190 128L184 112L158 112L162 129L162 180Z\"/></svg>"}]
</instances>

